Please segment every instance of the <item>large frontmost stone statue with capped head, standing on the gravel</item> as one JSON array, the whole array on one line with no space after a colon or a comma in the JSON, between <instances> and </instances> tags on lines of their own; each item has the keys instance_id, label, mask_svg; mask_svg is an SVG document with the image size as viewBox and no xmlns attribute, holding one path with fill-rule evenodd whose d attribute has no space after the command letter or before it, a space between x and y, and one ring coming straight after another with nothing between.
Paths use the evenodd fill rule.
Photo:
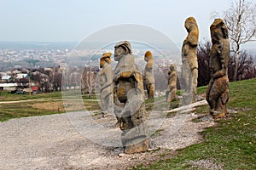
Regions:
<instances>
[{"instance_id":1,"label":"large frontmost stone statue with capped head, standing on the gravel","mask_svg":"<svg viewBox=\"0 0 256 170\"><path fill-rule=\"evenodd\" d=\"M125 153L148 150L143 74L135 64L130 42L122 41L114 46L114 60L118 61L113 77L114 113L123 131Z\"/></svg>"}]
</instances>

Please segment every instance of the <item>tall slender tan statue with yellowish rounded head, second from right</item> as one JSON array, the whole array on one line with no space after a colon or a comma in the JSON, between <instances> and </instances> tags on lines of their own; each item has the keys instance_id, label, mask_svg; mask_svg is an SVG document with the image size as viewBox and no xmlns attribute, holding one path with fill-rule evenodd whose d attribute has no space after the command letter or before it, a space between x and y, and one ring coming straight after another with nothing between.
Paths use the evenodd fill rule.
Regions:
<instances>
[{"instance_id":1,"label":"tall slender tan statue with yellowish rounded head, second from right","mask_svg":"<svg viewBox=\"0 0 256 170\"><path fill-rule=\"evenodd\" d=\"M185 28L188 31L188 36L183 41L182 48L182 77L184 81L185 93L183 94L184 103L195 102L196 87L198 77L198 62L196 48L198 45L198 27L195 18L189 17L185 21Z\"/></svg>"}]
</instances>

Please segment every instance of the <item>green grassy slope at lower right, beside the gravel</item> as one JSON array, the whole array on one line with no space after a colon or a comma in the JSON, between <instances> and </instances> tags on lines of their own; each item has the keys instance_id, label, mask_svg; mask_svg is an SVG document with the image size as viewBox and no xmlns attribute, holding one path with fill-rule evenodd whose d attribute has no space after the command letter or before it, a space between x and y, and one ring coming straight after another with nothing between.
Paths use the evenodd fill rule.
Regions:
<instances>
[{"instance_id":1,"label":"green grassy slope at lower right, beside the gravel","mask_svg":"<svg viewBox=\"0 0 256 170\"><path fill-rule=\"evenodd\" d=\"M170 159L133 169L207 169L195 164L199 161L211 162L217 169L256 169L256 79L230 83L228 108L237 113L218 119L217 126L205 129L200 144L177 150ZM205 114L208 107L200 106L196 111Z\"/></svg>"}]
</instances>

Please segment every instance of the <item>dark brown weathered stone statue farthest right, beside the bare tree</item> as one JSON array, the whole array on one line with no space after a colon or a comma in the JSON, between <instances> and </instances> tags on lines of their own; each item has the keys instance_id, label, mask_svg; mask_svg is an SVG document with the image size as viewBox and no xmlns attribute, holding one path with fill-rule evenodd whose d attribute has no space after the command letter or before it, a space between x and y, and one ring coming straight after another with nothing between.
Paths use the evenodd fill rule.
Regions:
<instances>
[{"instance_id":1,"label":"dark brown weathered stone statue farthest right, beside the bare tree","mask_svg":"<svg viewBox=\"0 0 256 170\"><path fill-rule=\"evenodd\" d=\"M210 114L213 118L219 118L227 114L226 105L229 101L230 42L224 20L214 20L210 30L212 37L212 48L209 53L211 80L207 88L207 102L210 105Z\"/></svg>"}]
</instances>

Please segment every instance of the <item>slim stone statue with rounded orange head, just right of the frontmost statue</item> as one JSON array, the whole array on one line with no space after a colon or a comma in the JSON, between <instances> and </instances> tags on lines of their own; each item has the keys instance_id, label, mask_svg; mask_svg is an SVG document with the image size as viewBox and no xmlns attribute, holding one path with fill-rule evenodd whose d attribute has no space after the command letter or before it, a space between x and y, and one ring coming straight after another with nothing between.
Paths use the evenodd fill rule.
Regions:
<instances>
[{"instance_id":1,"label":"slim stone statue with rounded orange head, just right of the frontmost statue","mask_svg":"<svg viewBox=\"0 0 256 170\"><path fill-rule=\"evenodd\" d=\"M148 99L154 98L154 59L153 54L147 51L144 55L144 60L147 62L144 71L144 83L148 92Z\"/></svg>"}]
</instances>

